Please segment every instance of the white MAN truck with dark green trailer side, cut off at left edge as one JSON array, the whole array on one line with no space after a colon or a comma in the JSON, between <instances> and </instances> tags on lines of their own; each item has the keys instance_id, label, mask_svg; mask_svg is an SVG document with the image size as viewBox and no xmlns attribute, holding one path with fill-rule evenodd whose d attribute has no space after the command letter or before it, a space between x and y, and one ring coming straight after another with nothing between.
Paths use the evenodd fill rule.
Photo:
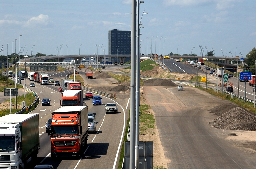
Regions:
<instances>
[{"instance_id":1,"label":"white MAN truck with dark green trailer side, cut off at left edge","mask_svg":"<svg viewBox=\"0 0 256 169\"><path fill-rule=\"evenodd\" d=\"M37 161L39 114L9 114L0 117L0 168L23 169Z\"/></svg>"}]
</instances>

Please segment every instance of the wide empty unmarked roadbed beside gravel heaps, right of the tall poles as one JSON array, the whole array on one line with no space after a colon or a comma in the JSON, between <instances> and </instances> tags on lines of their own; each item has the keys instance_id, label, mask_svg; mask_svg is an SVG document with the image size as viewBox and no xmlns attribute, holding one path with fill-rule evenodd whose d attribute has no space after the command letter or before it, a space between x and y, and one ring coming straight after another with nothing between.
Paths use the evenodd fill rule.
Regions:
<instances>
[{"instance_id":1,"label":"wide empty unmarked roadbed beside gravel heaps, right of the tall poles","mask_svg":"<svg viewBox=\"0 0 256 169\"><path fill-rule=\"evenodd\" d=\"M255 168L255 151L225 139L235 130L229 133L208 124L217 118L208 110L228 101L187 86L184 91L143 88L154 111L168 168Z\"/></svg>"}]
</instances>

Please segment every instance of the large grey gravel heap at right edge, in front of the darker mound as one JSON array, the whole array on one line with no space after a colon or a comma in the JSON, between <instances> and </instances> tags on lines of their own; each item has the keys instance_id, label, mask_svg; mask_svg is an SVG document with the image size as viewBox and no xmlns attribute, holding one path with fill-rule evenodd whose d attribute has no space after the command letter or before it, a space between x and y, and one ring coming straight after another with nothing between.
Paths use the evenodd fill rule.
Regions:
<instances>
[{"instance_id":1,"label":"large grey gravel heap at right edge, in front of the darker mound","mask_svg":"<svg viewBox=\"0 0 256 169\"><path fill-rule=\"evenodd\" d=\"M209 122L210 126L226 130L256 130L256 116L240 107L233 108Z\"/></svg>"}]
</instances>

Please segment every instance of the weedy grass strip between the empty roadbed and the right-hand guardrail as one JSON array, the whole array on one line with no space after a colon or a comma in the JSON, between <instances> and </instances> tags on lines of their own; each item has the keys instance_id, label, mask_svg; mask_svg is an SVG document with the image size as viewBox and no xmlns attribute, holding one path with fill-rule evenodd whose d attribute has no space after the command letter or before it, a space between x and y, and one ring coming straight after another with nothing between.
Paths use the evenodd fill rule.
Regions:
<instances>
[{"instance_id":1,"label":"weedy grass strip between the empty roadbed and the right-hand guardrail","mask_svg":"<svg viewBox=\"0 0 256 169\"><path fill-rule=\"evenodd\" d=\"M229 100L229 101L231 101L231 102L233 102L233 103L235 103L235 104L237 104L237 105L239 105L239 106L241 106L241 107L244 107L244 108L247 108L249 111L251 111L251 112L253 112L253 113L256 113L256 108L254 108L254 104L253 103L251 103L251 102L244 102L244 100L243 99L237 99L236 97L234 97L233 99L231 98L231 93L230 94L221 94L221 92L215 92L215 91L213 91L213 90L206 90L205 88L203 88L203 87L201 87L201 86L198 86L198 87L196 87L196 88L198 88L198 89L201 89L201 90L204 90L204 91L206 91L207 93L210 93L210 94L212 94L212 95L215 95L215 96L217 96L218 98L221 98L221 99L223 99L223 100Z\"/></svg>"}]
</instances>

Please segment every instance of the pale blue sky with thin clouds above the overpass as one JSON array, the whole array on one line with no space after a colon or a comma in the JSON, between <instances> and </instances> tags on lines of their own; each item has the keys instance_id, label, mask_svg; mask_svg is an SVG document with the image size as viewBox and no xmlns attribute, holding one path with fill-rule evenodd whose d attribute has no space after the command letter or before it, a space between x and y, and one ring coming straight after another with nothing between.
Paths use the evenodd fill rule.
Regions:
<instances>
[{"instance_id":1,"label":"pale blue sky with thin clouds above the overpass","mask_svg":"<svg viewBox=\"0 0 256 169\"><path fill-rule=\"evenodd\" d=\"M216 56L222 55L220 49L224 56L232 57L229 51L245 56L256 45L255 0L145 0L141 14L144 8L148 14L141 21L141 53L150 53L151 39L157 54L163 54L163 48L165 54L177 53L178 46L178 54L190 54L195 46L192 53L199 55L200 44L204 50L213 48ZM61 44L63 55L79 54L80 44L80 54L97 54L96 44L106 46L105 52L99 47L99 54L108 54L108 31L131 30L131 0L1 0L0 14L3 55L7 43L12 53L16 38L18 53L19 35L21 51L25 46L27 54L35 45L33 54L57 55Z\"/></svg>"}]
</instances>

